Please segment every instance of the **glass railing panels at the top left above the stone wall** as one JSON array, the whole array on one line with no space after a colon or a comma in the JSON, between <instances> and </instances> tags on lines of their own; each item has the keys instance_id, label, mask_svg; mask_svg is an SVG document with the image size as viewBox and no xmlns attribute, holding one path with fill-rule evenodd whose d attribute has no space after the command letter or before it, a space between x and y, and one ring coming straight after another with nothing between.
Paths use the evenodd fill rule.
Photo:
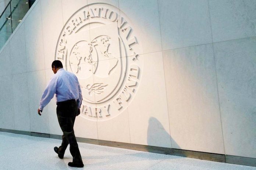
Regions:
<instances>
[{"instance_id":1,"label":"glass railing panels at the top left above the stone wall","mask_svg":"<svg viewBox=\"0 0 256 170\"><path fill-rule=\"evenodd\" d=\"M34 2L35 0L10 0L4 10L0 11L0 50Z\"/></svg>"}]
</instances>

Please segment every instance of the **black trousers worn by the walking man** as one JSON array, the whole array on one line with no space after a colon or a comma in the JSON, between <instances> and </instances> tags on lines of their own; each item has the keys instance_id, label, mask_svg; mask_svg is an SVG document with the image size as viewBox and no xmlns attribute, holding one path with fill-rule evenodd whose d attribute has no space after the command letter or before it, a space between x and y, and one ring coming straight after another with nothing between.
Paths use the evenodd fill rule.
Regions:
<instances>
[{"instance_id":1,"label":"black trousers worn by the walking man","mask_svg":"<svg viewBox=\"0 0 256 170\"><path fill-rule=\"evenodd\" d=\"M64 154L68 144L70 144L70 153L73 156L73 162L83 163L73 129L77 111L77 102L75 100L57 102L56 112L60 128L63 132L59 153Z\"/></svg>"}]
</instances>

